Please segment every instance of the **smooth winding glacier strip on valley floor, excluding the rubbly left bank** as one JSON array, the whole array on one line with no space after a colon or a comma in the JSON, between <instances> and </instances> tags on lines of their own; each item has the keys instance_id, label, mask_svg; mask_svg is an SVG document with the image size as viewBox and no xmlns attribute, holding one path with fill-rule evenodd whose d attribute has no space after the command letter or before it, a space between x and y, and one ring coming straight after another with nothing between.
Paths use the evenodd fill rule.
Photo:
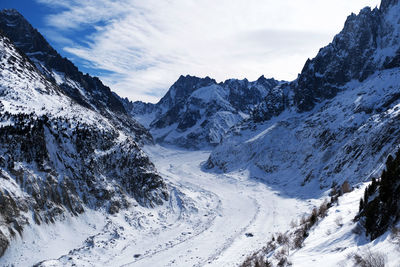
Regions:
<instances>
[{"instance_id":1,"label":"smooth winding glacier strip on valley floor, excluding the rubbly left bank","mask_svg":"<svg viewBox=\"0 0 400 267\"><path fill-rule=\"evenodd\" d=\"M179 187L214 196L216 217L204 231L181 245L143 260L140 266L235 266L262 246L276 231L313 207L314 201L281 196L248 171L213 174L202 171L207 151L170 150L160 146L146 151L163 177ZM247 234L247 235L246 235ZM251 235L253 235L251 237ZM173 256L171 258L171 256Z\"/></svg>"}]
</instances>

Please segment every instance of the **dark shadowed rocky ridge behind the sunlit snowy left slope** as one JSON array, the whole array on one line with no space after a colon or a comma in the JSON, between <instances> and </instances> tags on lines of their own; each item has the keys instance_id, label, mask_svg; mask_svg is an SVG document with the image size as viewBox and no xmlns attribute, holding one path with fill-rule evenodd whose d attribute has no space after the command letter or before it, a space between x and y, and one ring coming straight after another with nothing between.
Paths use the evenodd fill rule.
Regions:
<instances>
[{"instance_id":1,"label":"dark shadowed rocky ridge behind the sunlit snowy left slope","mask_svg":"<svg viewBox=\"0 0 400 267\"><path fill-rule=\"evenodd\" d=\"M151 143L146 128L130 116L120 98L97 77L83 74L62 57L16 10L0 11L0 30L36 65L38 70L78 104L99 112L118 129L129 132L139 143Z\"/></svg>"}]
</instances>

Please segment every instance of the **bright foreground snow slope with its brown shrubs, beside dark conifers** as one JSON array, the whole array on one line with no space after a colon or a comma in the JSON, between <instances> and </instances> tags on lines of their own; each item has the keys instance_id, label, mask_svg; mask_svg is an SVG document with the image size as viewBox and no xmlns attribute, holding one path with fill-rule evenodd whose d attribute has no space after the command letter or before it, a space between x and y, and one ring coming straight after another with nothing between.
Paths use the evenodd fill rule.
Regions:
<instances>
[{"instance_id":1,"label":"bright foreground snow slope with its brown shrubs, beside dark conifers","mask_svg":"<svg viewBox=\"0 0 400 267\"><path fill-rule=\"evenodd\" d=\"M274 233L275 239L265 242L264 248L252 254L242 266L256 266L257 259L272 266L400 266L398 234L387 231L371 242L354 221L367 184L360 183L350 193L340 196L305 236L301 229L304 222L309 222L304 217L294 220L290 230ZM304 238L301 244L296 241L300 237Z\"/></svg>"}]
</instances>

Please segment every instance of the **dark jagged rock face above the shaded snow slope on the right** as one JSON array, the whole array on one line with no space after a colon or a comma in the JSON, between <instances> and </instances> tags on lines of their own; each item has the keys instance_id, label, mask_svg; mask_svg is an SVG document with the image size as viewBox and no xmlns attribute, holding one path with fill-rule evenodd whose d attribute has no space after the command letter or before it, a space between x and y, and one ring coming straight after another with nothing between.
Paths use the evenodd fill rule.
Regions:
<instances>
[{"instance_id":1,"label":"dark jagged rock face above the shaded snow slope on the right","mask_svg":"<svg viewBox=\"0 0 400 267\"><path fill-rule=\"evenodd\" d=\"M312 110L352 81L400 66L398 1L382 1L380 9L366 7L351 14L332 43L307 60L298 78L277 88L255 112L255 121L269 120L283 110Z\"/></svg>"}]
</instances>

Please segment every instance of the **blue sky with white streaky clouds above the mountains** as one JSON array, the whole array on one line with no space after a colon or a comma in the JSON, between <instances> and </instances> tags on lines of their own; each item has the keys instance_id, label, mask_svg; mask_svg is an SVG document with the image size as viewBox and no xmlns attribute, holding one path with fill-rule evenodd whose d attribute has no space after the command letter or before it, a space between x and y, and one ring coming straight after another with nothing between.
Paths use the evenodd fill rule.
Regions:
<instances>
[{"instance_id":1,"label":"blue sky with white streaky clouds above the mountains","mask_svg":"<svg viewBox=\"0 0 400 267\"><path fill-rule=\"evenodd\" d=\"M63 56L131 100L180 75L294 80L346 17L380 0L0 0Z\"/></svg>"}]
</instances>

